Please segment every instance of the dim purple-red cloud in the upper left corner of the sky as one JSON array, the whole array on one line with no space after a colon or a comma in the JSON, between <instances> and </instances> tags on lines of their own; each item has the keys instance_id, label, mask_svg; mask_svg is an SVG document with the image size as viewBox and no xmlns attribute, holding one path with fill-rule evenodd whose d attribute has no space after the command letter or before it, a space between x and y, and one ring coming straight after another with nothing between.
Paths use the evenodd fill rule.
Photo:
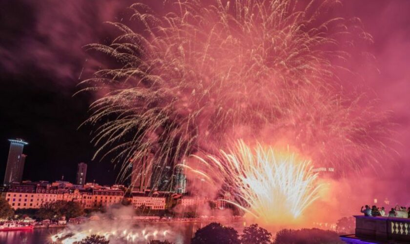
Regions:
<instances>
[{"instance_id":1,"label":"dim purple-red cloud in the upper left corner of the sky","mask_svg":"<svg viewBox=\"0 0 410 244\"><path fill-rule=\"evenodd\" d=\"M126 6L114 0L3 1L0 64L14 74L34 69L52 85L75 85L87 58L82 46L104 41L102 22L120 21Z\"/></svg>"}]
</instances>

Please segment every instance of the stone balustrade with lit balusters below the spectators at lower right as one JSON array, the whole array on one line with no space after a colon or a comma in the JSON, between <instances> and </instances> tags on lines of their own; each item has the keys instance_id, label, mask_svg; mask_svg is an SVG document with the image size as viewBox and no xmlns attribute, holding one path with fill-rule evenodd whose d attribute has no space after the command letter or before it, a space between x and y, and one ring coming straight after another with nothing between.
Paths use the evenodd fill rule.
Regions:
<instances>
[{"instance_id":1,"label":"stone balustrade with lit balusters below the spectators at lower right","mask_svg":"<svg viewBox=\"0 0 410 244\"><path fill-rule=\"evenodd\" d=\"M366 243L369 241L398 241L410 243L410 219L391 217L356 218L354 235L341 236L346 243Z\"/></svg>"}]
</instances>

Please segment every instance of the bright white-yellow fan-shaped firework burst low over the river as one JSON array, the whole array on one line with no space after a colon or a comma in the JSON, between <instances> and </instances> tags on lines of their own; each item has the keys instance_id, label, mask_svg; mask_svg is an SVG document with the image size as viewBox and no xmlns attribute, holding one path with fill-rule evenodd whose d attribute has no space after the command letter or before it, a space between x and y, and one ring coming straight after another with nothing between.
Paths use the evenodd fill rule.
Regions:
<instances>
[{"instance_id":1,"label":"bright white-yellow fan-shaped firework burst low over the river","mask_svg":"<svg viewBox=\"0 0 410 244\"><path fill-rule=\"evenodd\" d=\"M278 152L258 144L251 148L238 141L220 157L194 156L208 172L196 171L213 184L222 184L235 201L227 201L259 219L263 224L290 224L318 198L320 185L310 162L289 152ZM184 165L185 166L185 165ZM189 166L185 166L190 168Z\"/></svg>"}]
</instances>

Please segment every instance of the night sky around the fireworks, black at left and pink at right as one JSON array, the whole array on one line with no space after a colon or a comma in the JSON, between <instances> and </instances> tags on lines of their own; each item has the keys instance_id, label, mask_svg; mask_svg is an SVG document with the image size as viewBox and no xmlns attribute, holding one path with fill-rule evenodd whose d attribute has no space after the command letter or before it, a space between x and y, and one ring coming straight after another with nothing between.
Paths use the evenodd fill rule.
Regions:
<instances>
[{"instance_id":1,"label":"night sky around the fireworks, black at left and pink at right","mask_svg":"<svg viewBox=\"0 0 410 244\"><path fill-rule=\"evenodd\" d=\"M87 182L114 183L109 160L91 161L95 148L91 129L79 125L88 116L90 95L76 85L87 76L90 62L82 46L109 39L104 21L128 18L133 1L41 0L0 3L0 180L4 176L10 138L29 142L23 179L75 180L77 163L88 163ZM160 1L158 1L160 2ZM152 6L161 8L161 4ZM360 18L374 37L370 47L379 74L364 85L392 111L394 140L400 154L392 159L400 172L386 168L386 181L409 177L410 159L410 1L346 0L342 16ZM152 4L151 4L152 5ZM394 166L395 167L395 166ZM403 170L404 169L404 170ZM398 175L397 175L398 174ZM398 177L397 177L398 176Z\"/></svg>"}]
</instances>

